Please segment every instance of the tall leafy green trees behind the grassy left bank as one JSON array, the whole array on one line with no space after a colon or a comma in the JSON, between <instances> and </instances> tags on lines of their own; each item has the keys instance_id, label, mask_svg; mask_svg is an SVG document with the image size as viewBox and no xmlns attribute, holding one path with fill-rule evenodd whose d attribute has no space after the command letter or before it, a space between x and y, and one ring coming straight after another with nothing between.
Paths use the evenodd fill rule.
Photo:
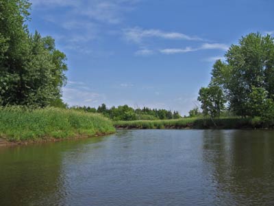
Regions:
<instances>
[{"instance_id":1,"label":"tall leafy green trees behind the grassy left bank","mask_svg":"<svg viewBox=\"0 0 274 206\"><path fill-rule=\"evenodd\" d=\"M0 106L62 107L66 55L50 36L29 32L30 5L0 1Z\"/></svg>"}]
</instances>

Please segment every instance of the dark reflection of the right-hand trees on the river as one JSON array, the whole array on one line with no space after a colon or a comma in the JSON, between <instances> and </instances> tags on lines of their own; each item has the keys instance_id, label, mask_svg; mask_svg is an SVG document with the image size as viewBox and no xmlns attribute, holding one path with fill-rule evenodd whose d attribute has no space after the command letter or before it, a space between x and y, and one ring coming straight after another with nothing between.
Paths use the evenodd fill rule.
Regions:
<instances>
[{"instance_id":1,"label":"dark reflection of the right-hand trees on the river","mask_svg":"<svg viewBox=\"0 0 274 206\"><path fill-rule=\"evenodd\" d=\"M216 205L273 205L273 138L273 131L204 131L203 161L217 184Z\"/></svg>"}]
</instances>

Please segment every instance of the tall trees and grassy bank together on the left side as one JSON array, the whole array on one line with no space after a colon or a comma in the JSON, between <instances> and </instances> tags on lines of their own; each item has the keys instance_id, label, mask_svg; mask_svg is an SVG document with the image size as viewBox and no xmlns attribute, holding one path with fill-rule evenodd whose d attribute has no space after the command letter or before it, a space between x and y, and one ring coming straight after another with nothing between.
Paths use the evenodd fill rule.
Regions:
<instances>
[{"instance_id":1,"label":"tall trees and grassy bank together on the left side","mask_svg":"<svg viewBox=\"0 0 274 206\"><path fill-rule=\"evenodd\" d=\"M30 5L0 1L0 137L25 141L114 133L112 122L99 114L61 109L67 108L61 99L66 55L50 36L29 33Z\"/></svg>"}]
</instances>

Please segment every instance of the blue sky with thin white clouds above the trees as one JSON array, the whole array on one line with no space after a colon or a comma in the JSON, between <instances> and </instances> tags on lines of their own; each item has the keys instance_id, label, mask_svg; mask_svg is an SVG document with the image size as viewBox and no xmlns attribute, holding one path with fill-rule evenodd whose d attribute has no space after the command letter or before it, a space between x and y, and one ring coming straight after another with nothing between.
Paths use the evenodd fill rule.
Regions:
<instances>
[{"instance_id":1,"label":"blue sky with thin white clouds above the trees","mask_svg":"<svg viewBox=\"0 0 274 206\"><path fill-rule=\"evenodd\" d=\"M177 110L250 32L274 34L272 0L31 0L29 29L67 55L69 105Z\"/></svg>"}]
</instances>

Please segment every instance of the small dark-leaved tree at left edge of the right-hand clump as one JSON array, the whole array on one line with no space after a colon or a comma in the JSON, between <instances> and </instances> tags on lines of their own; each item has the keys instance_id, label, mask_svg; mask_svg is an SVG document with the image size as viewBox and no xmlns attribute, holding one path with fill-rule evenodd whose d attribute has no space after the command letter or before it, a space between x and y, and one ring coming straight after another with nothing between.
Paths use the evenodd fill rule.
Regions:
<instances>
[{"instance_id":1,"label":"small dark-leaved tree at left edge of the right-hand clump","mask_svg":"<svg viewBox=\"0 0 274 206\"><path fill-rule=\"evenodd\" d=\"M198 101L201 102L203 114L209 115L212 119L219 117L225 108L223 91L217 86L202 87L199 90Z\"/></svg>"}]
</instances>

